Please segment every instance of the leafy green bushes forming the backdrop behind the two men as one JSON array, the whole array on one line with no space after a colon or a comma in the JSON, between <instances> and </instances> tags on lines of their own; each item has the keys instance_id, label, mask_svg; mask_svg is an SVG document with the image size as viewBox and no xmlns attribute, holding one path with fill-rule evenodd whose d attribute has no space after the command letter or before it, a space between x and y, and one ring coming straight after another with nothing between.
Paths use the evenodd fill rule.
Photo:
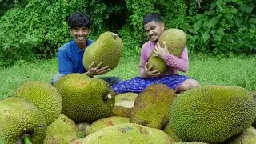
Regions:
<instances>
[{"instance_id":1,"label":"leafy green bushes forming the backdrop behind the two men","mask_svg":"<svg viewBox=\"0 0 256 144\"><path fill-rule=\"evenodd\" d=\"M66 20L85 11L90 38L106 30L119 34L125 56L146 42L142 18L158 12L166 28L186 31L190 53L255 54L255 0L0 0L0 66L53 58L70 41Z\"/></svg>"}]
</instances>

